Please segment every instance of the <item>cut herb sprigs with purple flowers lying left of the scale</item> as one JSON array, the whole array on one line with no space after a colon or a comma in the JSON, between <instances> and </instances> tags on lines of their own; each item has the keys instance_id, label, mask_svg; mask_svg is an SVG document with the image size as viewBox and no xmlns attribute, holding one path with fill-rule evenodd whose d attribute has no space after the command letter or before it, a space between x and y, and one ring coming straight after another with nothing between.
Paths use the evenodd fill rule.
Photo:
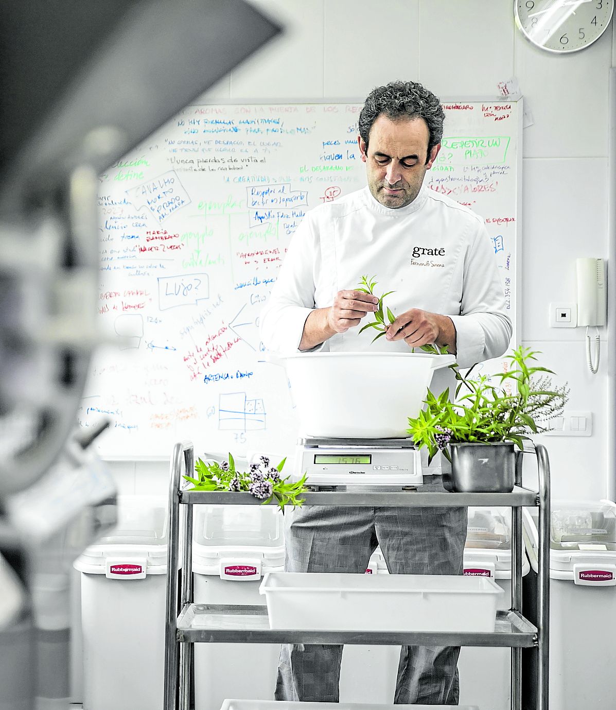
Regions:
<instances>
[{"instance_id":1,"label":"cut herb sprigs with purple flowers lying left of the scale","mask_svg":"<svg viewBox=\"0 0 616 710\"><path fill-rule=\"evenodd\" d=\"M184 478L193 484L189 488L191 491L244 491L260 498L263 505L275 498L284 513L285 506L301 507L304 499L299 496L307 491L306 476L291 483L287 482L290 476L285 479L280 476L286 460L282 459L277 466L270 466L270 459L262 456L258 464L251 464L249 471L239 471L231 453L228 461L212 461L210 464L199 458L194 465L197 478Z\"/></svg>"}]
</instances>

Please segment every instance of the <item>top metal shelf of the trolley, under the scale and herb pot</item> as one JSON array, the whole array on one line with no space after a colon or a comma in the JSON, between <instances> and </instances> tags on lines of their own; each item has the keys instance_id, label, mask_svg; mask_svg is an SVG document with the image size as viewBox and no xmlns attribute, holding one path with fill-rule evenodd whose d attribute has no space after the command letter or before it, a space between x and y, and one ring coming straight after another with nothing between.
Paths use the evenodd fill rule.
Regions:
<instances>
[{"instance_id":1,"label":"top metal shelf of the trolley, under the scale and herb pot","mask_svg":"<svg viewBox=\"0 0 616 710\"><path fill-rule=\"evenodd\" d=\"M336 486L335 491L302 494L304 506L537 506L537 491L515 486L511 493L422 492L422 486ZM180 491L180 503L260 505L251 493ZM276 505L276 501L272 501Z\"/></svg>"}]
</instances>

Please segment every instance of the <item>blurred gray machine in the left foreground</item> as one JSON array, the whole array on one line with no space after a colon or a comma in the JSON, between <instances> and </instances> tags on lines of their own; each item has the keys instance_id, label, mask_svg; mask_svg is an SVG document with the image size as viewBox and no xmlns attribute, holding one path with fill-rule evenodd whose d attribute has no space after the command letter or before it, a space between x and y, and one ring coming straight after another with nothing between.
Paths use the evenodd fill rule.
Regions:
<instances>
[{"instance_id":1,"label":"blurred gray machine in the left foreground","mask_svg":"<svg viewBox=\"0 0 616 710\"><path fill-rule=\"evenodd\" d=\"M97 176L278 31L241 0L0 6L0 710L67 706L67 575L116 518L74 434Z\"/></svg>"}]
</instances>

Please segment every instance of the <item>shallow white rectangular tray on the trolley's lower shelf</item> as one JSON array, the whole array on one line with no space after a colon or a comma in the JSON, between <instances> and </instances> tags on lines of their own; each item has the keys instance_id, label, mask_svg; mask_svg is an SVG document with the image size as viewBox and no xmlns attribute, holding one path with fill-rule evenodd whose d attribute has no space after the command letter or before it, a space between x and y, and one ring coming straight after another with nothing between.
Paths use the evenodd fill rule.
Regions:
<instances>
[{"instance_id":1,"label":"shallow white rectangular tray on the trolley's lower shelf","mask_svg":"<svg viewBox=\"0 0 616 710\"><path fill-rule=\"evenodd\" d=\"M493 631L502 590L485 577L270 572L270 628Z\"/></svg>"}]
</instances>

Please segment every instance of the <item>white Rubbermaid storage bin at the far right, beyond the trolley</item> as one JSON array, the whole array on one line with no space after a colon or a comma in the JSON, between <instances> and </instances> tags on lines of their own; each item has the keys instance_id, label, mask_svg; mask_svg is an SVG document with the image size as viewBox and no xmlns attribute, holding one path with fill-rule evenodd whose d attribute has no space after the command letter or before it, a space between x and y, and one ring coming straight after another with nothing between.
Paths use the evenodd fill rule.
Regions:
<instances>
[{"instance_id":1,"label":"white Rubbermaid storage bin at the far right, beyond the trolley","mask_svg":"<svg viewBox=\"0 0 616 710\"><path fill-rule=\"evenodd\" d=\"M524 599L537 594L539 511L524 508L524 536L532 571ZM616 506L610 501L551 503L551 710L612 710L616 704ZM534 609L525 616L536 621ZM528 663L528 665L527 665ZM524 673L534 674L531 658Z\"/></svg>"}]
</instances>

